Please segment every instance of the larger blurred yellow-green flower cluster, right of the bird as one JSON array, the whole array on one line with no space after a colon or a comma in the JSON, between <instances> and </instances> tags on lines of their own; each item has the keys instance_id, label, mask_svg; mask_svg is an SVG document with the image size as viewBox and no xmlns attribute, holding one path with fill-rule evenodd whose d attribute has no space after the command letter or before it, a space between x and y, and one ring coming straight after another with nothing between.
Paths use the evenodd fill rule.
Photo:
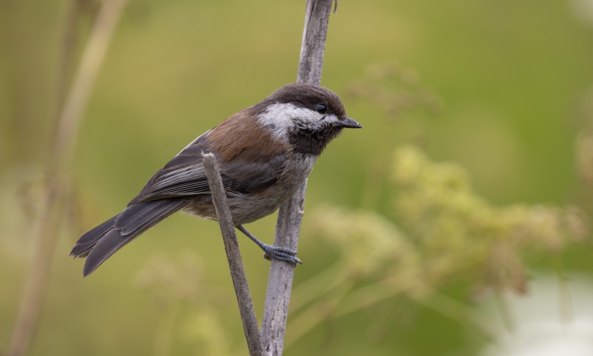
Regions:
<instances>
[{"instance_id":1,"label":"larger blurred yellow-green flower cluster, right of the bird","mask_svg":"<svg viewBox=\"0 0 593 356\"><path fill-rule=\"evenodd\" d=\"M471 189L456 164L433 164L412 147L395 153L394 208L423 258L428 284L473 277L486 287L526 290L528 252L558 253L588 236L578 208L514 204L492 206Z\"/></svg>"}]
</instances>

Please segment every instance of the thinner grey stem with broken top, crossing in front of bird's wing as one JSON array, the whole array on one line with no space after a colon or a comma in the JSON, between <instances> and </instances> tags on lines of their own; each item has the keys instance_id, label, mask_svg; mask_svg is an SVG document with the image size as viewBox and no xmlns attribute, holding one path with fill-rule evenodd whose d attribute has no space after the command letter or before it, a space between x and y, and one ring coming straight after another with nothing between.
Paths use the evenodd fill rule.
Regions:
<instances>
[{"instance_id":1,"label":"thinner grey stem with broken top, crossing in front of bird's wing","mask_svg":"<svg viewBox=\"0 0 593 356\"><path fill-rule=\"evenodd\" d=\"M235 294L237 294L237 302L239 304L241 320L243 320L243 330L247 339L249 354L251 356L264 356L266 352L262 348L256 312L253 309L253 301L249 293L243 259L241 259L239 243L235 234L235 225L232 223L231 209L228 207L227 194L222 185L216 158L212 153L204 155L204 169L206 170L212 200L216 208L216 217L221 227L224 247L227 251L228 267L231 270L232 284L235 287Z\"/></svg>"}]
</instances>

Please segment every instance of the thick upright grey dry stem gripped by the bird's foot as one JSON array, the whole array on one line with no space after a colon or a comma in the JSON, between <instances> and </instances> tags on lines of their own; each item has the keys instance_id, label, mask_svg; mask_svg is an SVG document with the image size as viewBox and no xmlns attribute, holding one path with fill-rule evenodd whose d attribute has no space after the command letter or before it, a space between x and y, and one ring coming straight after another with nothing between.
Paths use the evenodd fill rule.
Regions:
<instances>
[{"instance_id":1,"label":"thick upright grey dry stem gripped by the bird's foot","mask_svg":"<svg viewBox=\"0 0 593 356\"><path fill-rule=\"evenodd\" d=\"M321 82L331 2L332 0L307 0L297 74L298 82L310 84L320 84ZM307 182L305 181L291 200L280 206L274 239L275 246L297 250L306 187ZM294 268L295 266L278 260L272 260L270 266L262 322L262 341L264 349L273 356L282 355Z\"/></svg>"}]
</instances>

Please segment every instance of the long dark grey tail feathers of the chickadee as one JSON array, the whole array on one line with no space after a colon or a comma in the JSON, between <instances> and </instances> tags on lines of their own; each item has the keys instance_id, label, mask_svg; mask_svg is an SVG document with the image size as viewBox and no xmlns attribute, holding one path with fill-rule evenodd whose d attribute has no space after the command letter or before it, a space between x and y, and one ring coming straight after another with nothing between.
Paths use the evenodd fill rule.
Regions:
<instances>
[{"instance_id":1,"label":"long dark grey tail feathers of the chickadee","mask_svg":"<svg viewBox=\"0 0 593 356\"><path fill-rule=\"evenodd\" d=\"M130 205L120 214L84 233L72 247L70 256L86 257L82 275L90 275L125 244L185 204L184 199L160 199Z\"/></svg>"}]
</instances>

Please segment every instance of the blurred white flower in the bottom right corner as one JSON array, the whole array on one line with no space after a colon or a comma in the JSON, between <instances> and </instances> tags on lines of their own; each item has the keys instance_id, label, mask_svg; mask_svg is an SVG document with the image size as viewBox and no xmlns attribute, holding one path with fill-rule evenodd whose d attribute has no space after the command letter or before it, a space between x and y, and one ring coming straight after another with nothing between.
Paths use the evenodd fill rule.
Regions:
<instances>
[{"instance_id":1,"label":"blurred white flower in the bottom right corner","mask_svg":"<svg viewBox=\"0 0 593 356\"><path fill-rule=\"evenodd\" d=\"M530 292L506 294L511 329L480 356L593 355L593 283L585 278L560 282L537 276ZM496 310L490 304L492 319ZM501 329L502 322L501 322Z\"/></svg>"}]
</instances>

